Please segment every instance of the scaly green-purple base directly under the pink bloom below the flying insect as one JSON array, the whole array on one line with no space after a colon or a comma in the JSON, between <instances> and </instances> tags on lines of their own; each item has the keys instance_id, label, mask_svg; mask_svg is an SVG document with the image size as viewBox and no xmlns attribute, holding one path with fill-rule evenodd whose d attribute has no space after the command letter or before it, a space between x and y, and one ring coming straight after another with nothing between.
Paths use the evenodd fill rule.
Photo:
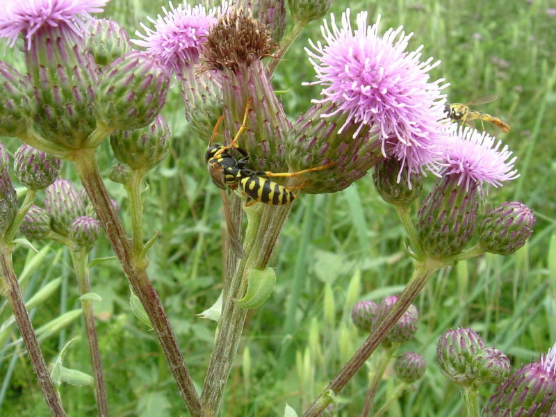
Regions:
<instances>
[{"instance_id":1,"label":"scaly green-purple base directly under the pink bloom below the flying insect","mask_svg":"<svg viewBox=\"0 0 556 417\"><path fill-rule=\"evenodd\" d=\"M425 252L434 259L445 259L464 250L473 236L481 204L477 183L466 188L456 175L437 180L417 215L417 233Z\"/></svg>"}]
</instances>

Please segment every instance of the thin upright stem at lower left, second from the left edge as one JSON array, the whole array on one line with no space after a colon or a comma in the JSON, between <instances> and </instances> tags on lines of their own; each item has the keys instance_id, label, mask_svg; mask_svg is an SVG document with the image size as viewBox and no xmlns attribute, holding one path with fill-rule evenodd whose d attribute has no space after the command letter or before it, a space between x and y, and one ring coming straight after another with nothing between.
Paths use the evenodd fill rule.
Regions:
<instances>
[{"instance_id":1,"label":"thin upright stem at lower left, second from the left edge","mask_svg":"<svg viewBox=\"0 0 556 417\"><path fill-rule=\"evenodd\" d=\"M77 276L79 294L88 294L90 293L89 268L87 267L89 254L85 249L74 250L72 245L68 245L68 249L70 250L75 274ZM92 301L81 300L81 309L83 310L83 319L85 321L85 333L87 334L92 377L95 380L97 411L99 417L108 417L108 399L106 397L106 386L102 373L102 362L100 359L99 341L97 339L97 328L95 326L95 316L92 310Z\"/></svg>"}]
</instances>

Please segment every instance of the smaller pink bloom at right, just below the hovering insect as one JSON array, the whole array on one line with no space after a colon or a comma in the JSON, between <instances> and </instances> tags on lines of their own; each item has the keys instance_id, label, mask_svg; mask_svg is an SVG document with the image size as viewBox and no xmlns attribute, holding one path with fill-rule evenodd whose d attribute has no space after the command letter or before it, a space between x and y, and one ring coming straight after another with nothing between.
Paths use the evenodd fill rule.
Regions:
<instances>
[{"instance_id":1,"label":"smaller pink bloom at right, just below the hovering insect","mask_svg":"<svg viewBox=\"0 0 556 417\"><path fill-rule=\"evenodd\" d=\"M443 167L441 174L459 175L458 185L464 184L466 190L472 182L482 184L484 181L498 187L502 181L519 177L517 170L512 169L516 157L508 161L512 152L507 145L500 149L502 141L496 142L488 133L454 126L446 145L439 163Z\"/></svg>"}]
</instances>

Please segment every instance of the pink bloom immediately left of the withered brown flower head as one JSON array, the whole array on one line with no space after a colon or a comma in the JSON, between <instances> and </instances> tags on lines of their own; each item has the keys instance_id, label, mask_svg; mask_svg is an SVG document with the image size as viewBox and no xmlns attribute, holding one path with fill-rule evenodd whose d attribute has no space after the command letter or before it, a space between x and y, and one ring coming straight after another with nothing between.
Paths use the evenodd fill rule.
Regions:
<instances>
[{"instance_id":1,"label":"pink bloom immediately left of the withered brown flower head","mask_svg":"<svg viewBox=\"0 0 556 417\"><path fill-rule=\"evenodd\" d=\"M147 48L147 54L156 56L172 70L181 73L181 68L199 60L201 45L213 24L217 22L216 8L206 11L204 6L192 7L190 4L179 4L174 8L169 2L170 10L162 8L164 16L158 15L156 20L148 17L154 24L154 30L140 24L145 35L136 31L141 38L132 40L134 44Z\"/></svg>"}]
</instances>

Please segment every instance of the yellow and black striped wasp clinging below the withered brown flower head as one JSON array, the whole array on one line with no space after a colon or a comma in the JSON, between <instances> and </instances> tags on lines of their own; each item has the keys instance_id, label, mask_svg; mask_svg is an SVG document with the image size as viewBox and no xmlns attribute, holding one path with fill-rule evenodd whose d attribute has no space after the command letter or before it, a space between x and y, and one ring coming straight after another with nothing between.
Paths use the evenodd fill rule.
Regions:
<instances>
[{"instance_id":1,"label":"yellow and black striped wasp clinging below the withered brown flower head","mask_svg":"<svg viewBox=\"0 0 556 417\"><path fill-rule=\"evenodd\" d=\"M238 238L236 238L233 224L231 224L229 211L226 207L226 188L230 188L231 190L240 188L241 193L247 196L245 206L251 206L258 202L273 205L288 204L297 198L293 190L298 190L303 186L281 186L279 183L268 179L268 177L297 177L308 172L324 170L333 164L333 162L330 162L319 167L313 167L298 172L255 171L248 168L249 154L245 149L238 146L238 140L246 129L250 104L251 99L248 99L247 106L245 106L243 122L238 129L238 133L234 139L231 140L230 144L226 146L220 144L211 145L218 132L218 126L220 122L222 122L224 116L220 117L215 125L211 142L209 142L208 149L206 149L205 153L208 173L211 174L213 183L222 190L222 201L224 202L224 215L226 217L227 228L238 257L241 257L240 254L245 257L245 252L243 252L243 248ZM234 157L234 149L240 154L240 158Z\"/></svg>"}]
</instances>

